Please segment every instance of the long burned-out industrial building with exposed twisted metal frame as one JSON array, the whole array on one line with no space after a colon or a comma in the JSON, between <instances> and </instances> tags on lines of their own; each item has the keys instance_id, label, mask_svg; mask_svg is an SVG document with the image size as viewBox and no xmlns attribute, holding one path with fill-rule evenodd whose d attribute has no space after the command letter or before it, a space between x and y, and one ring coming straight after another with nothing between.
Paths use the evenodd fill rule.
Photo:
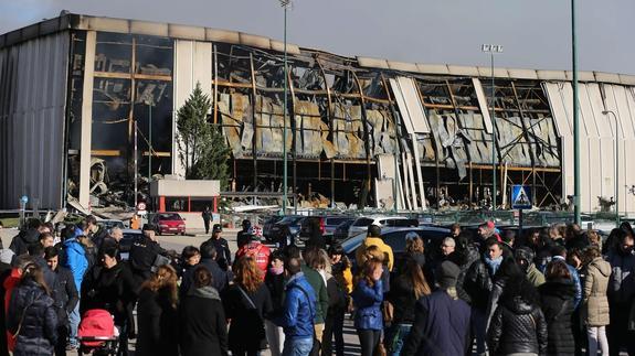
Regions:
<instances>
[{"instance_id":1,"label":"long burned-out industrial building with exposed twisted metal frame","mask_svg":"<svg viewBox=\"0 0 635 356\"><path fill-rule=\"evenodd\" d=\"M493 149L499 204L512 184L532 186L540 208L563 208L573 194L569 72L496 68L493 90L488 67L288 44L285 120L283 47L232 31L78 14L0 36L0 208L24 194L49 208L70 196L85 207L91 196L130 204L135 173L141 186L182 175L176 111L197 84L231 149L227 196L281 192L283 145L298 204L478 208L490 199ZM582 211L599 211L618 184L620 211L634 212L635 169L624 153L635 149L635 77L584 72L580 80Z\"/></svg>"}]
</instances>

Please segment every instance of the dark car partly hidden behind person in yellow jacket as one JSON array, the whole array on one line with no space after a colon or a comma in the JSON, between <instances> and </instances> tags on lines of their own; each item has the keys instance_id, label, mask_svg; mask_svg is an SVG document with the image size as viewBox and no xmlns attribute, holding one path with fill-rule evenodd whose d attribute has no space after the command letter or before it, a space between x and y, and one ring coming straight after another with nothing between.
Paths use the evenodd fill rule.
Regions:
<instances>
[{"instance_id":1,"label":"dark car partly hidden behind person in yellow jacket","mask_svg":"<svg viewBox=\"0 0 635 356\"><path fill-rule=\"evenodd\" d=\"M421 227L389 227L382 230L382 240L392 248L394 265L403 259L405 252L405 236L409 233L416 233L424 242L426 259L436 259L441 255L441 244L449 236L449 229L444 227L421 226ZM341 244L345 253L356 266L356 250L361 245L366 235L360 234L351 237Z\"/></svg>"}]
</instances>

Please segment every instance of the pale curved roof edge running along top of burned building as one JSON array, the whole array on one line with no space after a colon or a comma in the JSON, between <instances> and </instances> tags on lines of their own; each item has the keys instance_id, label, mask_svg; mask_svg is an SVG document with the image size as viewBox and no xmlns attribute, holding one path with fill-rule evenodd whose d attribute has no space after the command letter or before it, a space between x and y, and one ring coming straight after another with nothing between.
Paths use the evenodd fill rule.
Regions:
<instances>
[{"instance_id":1,"label":"pale curved roof edge running along top of burned building","mask_svg":"<svg viewBox=\"0 0 635 356\"><path fill-rule=\"evenodd\" d=\"M284 48L284 43L282 41L237 31L66 13L59 18L44 20L0 35L0 50L38 36L43 36L64 30L93 30L116 33L147 34L183 40L222 42L248 45L276 52L283 52ZM300 54L300 50L311 51L311 48L304 48L287 42L287 52L289 54L298 55ZM361 56L350 58L350 61L357 62L358 66L360 67L381 68L409 73L474 77L489 77L491 75L489 67L479 66L404 63L399 61ZM497 67L495 71L495 77L514 79L572 80L570 71L521 69L505 67ZM635 75L604 72L579 72L579 80L635 85Z\"/></svg>"}]
</instances>

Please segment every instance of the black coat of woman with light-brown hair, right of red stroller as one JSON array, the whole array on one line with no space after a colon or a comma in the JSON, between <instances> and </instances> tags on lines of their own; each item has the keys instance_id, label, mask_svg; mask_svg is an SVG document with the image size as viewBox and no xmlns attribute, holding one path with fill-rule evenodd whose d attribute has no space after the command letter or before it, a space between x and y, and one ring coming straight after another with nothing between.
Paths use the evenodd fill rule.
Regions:
<instances>
[{"instance_id":1,"label":"black coat of woman with light-brown hair, right of red stroller","mask_svg":"<svg viewBox=\"0 0 635 356\"><path fill-rule=\"evenodd\" d=\"M137 303L137 345L138 356L177 356L178 313L165 288L157 292L144 288Z\"/></svg>"}]
</instances>

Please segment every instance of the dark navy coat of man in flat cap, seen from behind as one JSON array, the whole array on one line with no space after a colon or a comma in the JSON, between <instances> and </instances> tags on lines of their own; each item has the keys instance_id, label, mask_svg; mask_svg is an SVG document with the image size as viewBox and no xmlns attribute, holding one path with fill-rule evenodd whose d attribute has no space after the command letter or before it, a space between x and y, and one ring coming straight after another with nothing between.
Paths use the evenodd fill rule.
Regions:
<instances>
[{"instance_id":1,"label":"dark navy coat of man in flat cap, seen from behind","mask_svg":"<svg viewBox=\"0 0 635 356\"><path fill-rule=\"evenodd\" d=\"M422 296L402 355L463 356L469 344L469 305L437 290Z\"/></svg>"}]
</instances>

